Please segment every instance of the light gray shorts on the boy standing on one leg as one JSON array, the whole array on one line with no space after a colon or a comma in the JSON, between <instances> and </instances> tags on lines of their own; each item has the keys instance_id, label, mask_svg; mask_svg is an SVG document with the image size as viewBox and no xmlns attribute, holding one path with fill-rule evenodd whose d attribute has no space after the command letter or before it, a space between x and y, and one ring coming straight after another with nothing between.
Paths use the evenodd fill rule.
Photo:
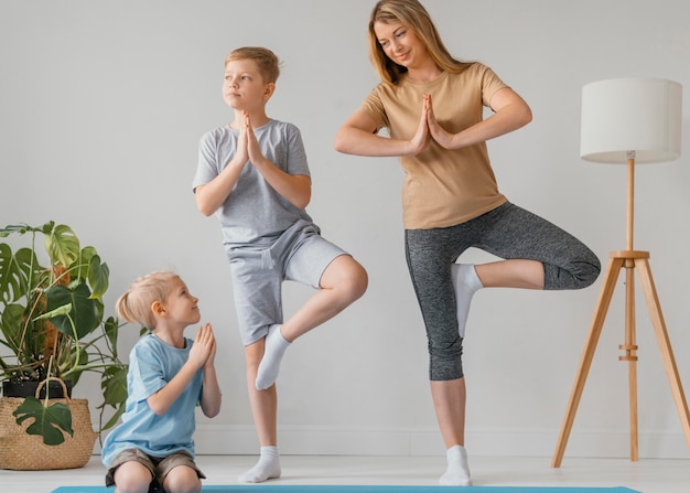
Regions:
<instances>
[{"instance_id":1,"label":"light gray shorts on the boy standing on one leg","mask_svg":"<svg viewBox=\"0 0 690 493\"><path fill-rule=\"evenodd\" d=\"M246 346L283 322L282 282L291 280L320 289L328 265L345 250L321 236L319 227L299 221L272 245L228 248L239 334Z\"/></svg>"}]
</instances>

